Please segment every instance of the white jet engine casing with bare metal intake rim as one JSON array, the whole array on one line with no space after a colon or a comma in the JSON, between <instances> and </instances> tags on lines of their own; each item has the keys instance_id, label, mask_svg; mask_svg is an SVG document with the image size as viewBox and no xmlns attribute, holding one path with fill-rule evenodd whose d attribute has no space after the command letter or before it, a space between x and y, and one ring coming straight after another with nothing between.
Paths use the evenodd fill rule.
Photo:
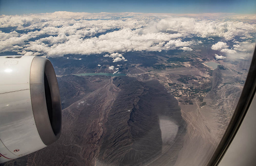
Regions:
<instances>
[{"instance_id":1,"label":"white jet engine casing with bare metal intake rim","mask_svg":"<svg viewBox=\"0 0 256 166\"><path fill-rule=\"evenodd\" d=\"M0 56L0 163L44 148L60 133L60 92L50 61Z\"/></svg>"}]
</instances>

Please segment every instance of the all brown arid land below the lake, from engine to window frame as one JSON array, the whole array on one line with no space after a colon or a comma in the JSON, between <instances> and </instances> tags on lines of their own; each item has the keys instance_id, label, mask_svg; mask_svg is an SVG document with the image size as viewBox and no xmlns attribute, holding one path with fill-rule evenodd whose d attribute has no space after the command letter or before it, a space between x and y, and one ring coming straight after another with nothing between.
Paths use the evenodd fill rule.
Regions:
<instances>
[{"instance_id":1,"label":"all brown arid land below the lake, from engine to window frame","mask_svg":"<svg viewBox=\"0 0 256 166\"><path fill-rule=\"evenodd\" d=\"M118 77L75 76L66 70L68 75L58 77L60 139L1 166L204 166L233 115L247 73L246 61L225 64L214 71L191 62L151 72L134 65L128 76ZM199 88L210 84L203 100L191 95L193 104L181 104L185 95L174 98L176 91L165 88L166 82L194 84L184 82L187 75L202 78Z\"/></svg>"}]
</instances>

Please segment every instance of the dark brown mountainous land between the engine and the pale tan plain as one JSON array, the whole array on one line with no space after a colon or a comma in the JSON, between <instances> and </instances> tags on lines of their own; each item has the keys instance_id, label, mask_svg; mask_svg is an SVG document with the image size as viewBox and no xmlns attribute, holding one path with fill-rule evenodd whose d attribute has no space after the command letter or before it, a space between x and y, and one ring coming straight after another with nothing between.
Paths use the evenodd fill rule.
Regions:
<instances>
[{"instance_id":1,"label":"dark brown mountainous land between the engine and the pale tan plain","mask_svg":"<svg viewBox=\"0 0 256 166\"><path fill-rule=\"evenodd\" d=\"M128 76L76 77L58 78L60 89L72 84L62 99L78 99L63 110L60 139L5 165L147 165L160 156L174 164L185 122L162 84Z\"/></svg>"}]
</instances>

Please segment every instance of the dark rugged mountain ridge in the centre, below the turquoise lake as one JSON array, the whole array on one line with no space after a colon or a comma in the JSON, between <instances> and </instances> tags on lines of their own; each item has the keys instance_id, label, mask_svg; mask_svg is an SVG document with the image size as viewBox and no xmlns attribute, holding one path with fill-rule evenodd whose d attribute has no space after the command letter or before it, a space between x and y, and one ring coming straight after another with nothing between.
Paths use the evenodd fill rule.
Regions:
<instances>
[{"instance_id":1,"label":"dark rugged mountain ridge in the centre, below the turquoise lake","mask_svg":"<svg viewBox=\"0 0 256 166\"><path fill-rule=\"evenodd\" d=\"M184 132L180 109L165 88L157 81L139 82L135 78L117 77L113 83L121 89L106 122L97 165L142 165L162 154L166 142L162 135ZM162 130L159 122L173 122L174 128ZM177 135L177 133L174 133ZM167 139L172 139L167 136ZM169 156L169 159L177 156Z\"/></svg>"}]
</instances>

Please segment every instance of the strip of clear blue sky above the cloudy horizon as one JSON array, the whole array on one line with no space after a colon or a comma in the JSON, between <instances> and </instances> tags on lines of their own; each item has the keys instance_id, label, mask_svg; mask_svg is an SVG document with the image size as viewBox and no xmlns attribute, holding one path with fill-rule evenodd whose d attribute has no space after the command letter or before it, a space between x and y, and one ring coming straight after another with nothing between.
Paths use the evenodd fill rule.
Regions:
<instances>
[{"instance_id":1,"label":"strip of clear blue sky above the cloudy horizon","mask_svg":"<svg viewBox=\"0 0 256 166\"><path fill-rule=\"evenodd\" d=\"M70 12L256 14L255 0L0 0L0 15Z\"/></svg>"}]
</instances>

